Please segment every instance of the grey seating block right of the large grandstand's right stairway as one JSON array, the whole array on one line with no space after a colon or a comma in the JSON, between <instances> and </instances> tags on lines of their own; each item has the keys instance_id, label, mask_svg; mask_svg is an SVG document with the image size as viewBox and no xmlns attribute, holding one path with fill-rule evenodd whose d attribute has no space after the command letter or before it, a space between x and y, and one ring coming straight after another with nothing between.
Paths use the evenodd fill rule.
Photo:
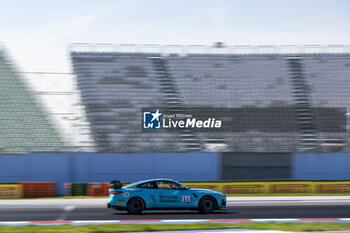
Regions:
<instances>
[{"instance_id":1,"label":"grey seating block right of the large grandstand's right stairway","mask_svg":"<svg viewBox=\"0 0 350 233\"><path fill-rule=\"evenodd\" d=\"M314 107L343 108L343 114L350 111L350 54L320 54L305 56L304 64L310 84L311 101ZM320 119L324 114L317 114ZM338 119L343 121L343 119ZM339 139L337 122L320 124L319 137L332 141ZM346 136L343 132L341 138Z\"/></svg>"}]
</instances>

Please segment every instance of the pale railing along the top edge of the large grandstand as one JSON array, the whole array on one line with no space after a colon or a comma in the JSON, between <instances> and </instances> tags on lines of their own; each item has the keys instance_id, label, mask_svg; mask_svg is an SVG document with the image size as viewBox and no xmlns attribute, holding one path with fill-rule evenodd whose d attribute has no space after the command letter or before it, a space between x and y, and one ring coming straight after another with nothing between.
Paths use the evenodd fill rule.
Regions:
<instances>
[{"instance_id":1,"label":"pale railing along the top edge of the large grandstand","mask_svg":"<svg viewBox=\"0 0 350 233\"><path fill-rule=\"evenodd\" d=\"M75 43L71 52L125 52L168 54L322 54L350 53L350 45L159 45Z\"/></svg>"}]
</instances>

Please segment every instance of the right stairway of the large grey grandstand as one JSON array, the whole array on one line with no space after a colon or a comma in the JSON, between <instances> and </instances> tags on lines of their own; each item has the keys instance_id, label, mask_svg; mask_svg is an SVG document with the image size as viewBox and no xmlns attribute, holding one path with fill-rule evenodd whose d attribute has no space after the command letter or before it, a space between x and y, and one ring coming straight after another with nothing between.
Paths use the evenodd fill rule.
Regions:
<instances>
[{"instance_id":1,"label":"right stairway of the large grey grandstand","mask_svg":"<svg viewBox=\"0 0 350 233\"><path fill-rule=\"evenodd\" d=\"M311 151L319 145L314 117L310 107L309 86L303 73L302 58L287 57L286 60L289 68L289 79L293 88L292 95L295 102L294 109L301 137L301 150Z\"/></svg>"}]
</instances>

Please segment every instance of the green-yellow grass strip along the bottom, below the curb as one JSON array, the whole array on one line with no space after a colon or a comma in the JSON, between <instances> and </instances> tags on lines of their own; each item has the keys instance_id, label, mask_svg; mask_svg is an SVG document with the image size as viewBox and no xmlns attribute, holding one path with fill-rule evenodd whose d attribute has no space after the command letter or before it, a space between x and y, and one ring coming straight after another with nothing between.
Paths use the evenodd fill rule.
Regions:
<instances>
[{"instance_id":1,"label":"green-yellow grass strip along the bottom, below the curb","mask_svg":"<svg viewBox=\"0 0 350 233\"><path fill-rule=\"evenodd\" d=\"M111 233L140 231L177 231L208 229L254 229L281 231L345 231L350 223L313 222L313 223L189 223L189 224L106 224L106 225L58 225L58 226L0 226L2 233Z\"/></svg>"}]
</instances>

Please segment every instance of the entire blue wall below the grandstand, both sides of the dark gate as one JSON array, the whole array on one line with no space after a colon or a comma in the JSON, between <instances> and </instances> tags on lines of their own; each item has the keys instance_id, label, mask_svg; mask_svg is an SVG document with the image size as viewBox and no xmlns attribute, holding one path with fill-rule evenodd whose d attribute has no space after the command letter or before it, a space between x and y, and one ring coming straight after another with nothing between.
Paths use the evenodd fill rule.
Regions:
<instances>
[{"instance_id":1,"label":"entire blue wall below the grandstand, both sides of the dark gate","mask_svg":"<svg viewBox=\"0 0 350 233\"><path fill-rule=\"evenodd\" d=\"M240 160L233 162L233 160L224 159L221 161L220 157L219 153L30 153L0 155L0 183L56 182L58 183L58 194L63 195L65 193L63 184L69 182L108 182L114 179L132 182L156 177L183 181L237 179L237 177L230 175L232 174L231 170L228 170L229 172L226 172L225 175L225 169L221 169L225 168L225 165L221 163L226 161L226 166L241 166L244 165L241 164L242 161L246 160L238 163L237 161ZM232 158L227 157L226 159ZM291 160L291 166L286 166L287 169L291 169L290 178L350 180L350 153L296 153L292 154ZM262 162L259 164L271 166L270 162L267 164L267 161L260 161ZM235 169L235 166L232 169ZM261 178L261 176L259 177ZM264 176L264 178L267 177ZM268 179L276 178L289 177L272 177L272 175L268 177Z\"/></svg>"}]
</instances>

